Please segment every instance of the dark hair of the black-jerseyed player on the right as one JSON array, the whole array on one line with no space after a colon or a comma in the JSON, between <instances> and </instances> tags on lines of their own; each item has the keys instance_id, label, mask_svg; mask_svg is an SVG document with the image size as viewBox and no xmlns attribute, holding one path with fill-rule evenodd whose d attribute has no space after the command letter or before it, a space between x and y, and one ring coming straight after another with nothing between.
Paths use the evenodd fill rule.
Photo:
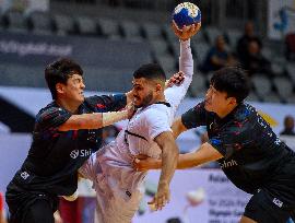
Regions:
<instances>
[{"instance_id":1,"label":"dark hair of the black-jerseyed player on the right","mask_svg":"<svg viewBox=\"0 0 295 223\"><path fill-rule=\"evenodd\" d=\"M241 103L249 94L250 80L241 68L226 67L214 72L210 84L219 92L225 92L227 97L235 97Z\"/></svg>"}]
</instances>

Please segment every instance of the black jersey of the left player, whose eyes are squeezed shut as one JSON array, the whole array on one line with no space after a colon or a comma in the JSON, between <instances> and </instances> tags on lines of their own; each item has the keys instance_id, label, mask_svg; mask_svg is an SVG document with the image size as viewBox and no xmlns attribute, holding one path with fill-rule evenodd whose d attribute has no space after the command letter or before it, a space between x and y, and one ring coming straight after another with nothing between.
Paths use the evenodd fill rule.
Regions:
<instances>
[{"instance_id":1,"label":"black jersey of the left player, whose eyes are squeezed shut","mask_svg":"<svg viewBox=\"0 0 295 223\"><path fill-rule=\"evenodd\" d=\"M78 114L119 110L126 102L125 94L86 97ZM70 196L76 190L76 171L99 149L102 129L59 131L59 126L70 117L71 114L55 102L40 109L32 146L11 183L13 188L59 196Z\"/></svg>"}]
</instances>

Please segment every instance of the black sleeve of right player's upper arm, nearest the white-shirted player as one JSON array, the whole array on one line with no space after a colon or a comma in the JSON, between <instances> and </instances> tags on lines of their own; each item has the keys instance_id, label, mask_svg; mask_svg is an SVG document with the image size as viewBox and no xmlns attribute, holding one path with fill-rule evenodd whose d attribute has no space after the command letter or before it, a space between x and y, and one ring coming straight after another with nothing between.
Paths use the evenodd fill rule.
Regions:
<instances>
[{"instance_id":1,"label":"black sleeve of right player's upper arm, nearest the white-shirted player","mask_svg":"<svg viewBox=\"0 0 295 223\"><path fill-rule=\"evenodd\" d=\"M206 110L204 108L204 102L199 103L193 108L182 114L181 122L187 129L197 128L199 126L205 126Z\"/></svg>"}]
</instances>

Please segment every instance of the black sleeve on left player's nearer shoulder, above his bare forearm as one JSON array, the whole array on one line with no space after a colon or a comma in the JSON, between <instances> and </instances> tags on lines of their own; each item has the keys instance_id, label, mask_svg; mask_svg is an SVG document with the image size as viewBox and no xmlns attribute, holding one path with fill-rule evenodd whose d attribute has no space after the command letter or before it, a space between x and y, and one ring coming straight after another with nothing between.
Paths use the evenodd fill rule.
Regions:
<instances>
[{"instance_id":1,"label":"black sleeve on left player's nearer shoulder, above his bare forearm","mask_svg":"<svg viewBox=\"0 0 295 223\"><path fill-rule=\"evenodd\" d=\"M55 131L64 124L72 115L63 108L50 107L42 110L36 117L37 131Z\"/></svg>"}]
</instances>

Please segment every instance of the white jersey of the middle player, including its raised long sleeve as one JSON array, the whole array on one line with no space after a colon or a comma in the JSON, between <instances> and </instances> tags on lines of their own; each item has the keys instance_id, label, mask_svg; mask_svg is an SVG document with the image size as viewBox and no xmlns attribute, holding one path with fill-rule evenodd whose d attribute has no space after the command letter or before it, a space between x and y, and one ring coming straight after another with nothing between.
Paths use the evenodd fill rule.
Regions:
<instances>
[{"instance_id":1,"label":"white jersey of the middle player, including its raised long sleeve","mask_svg":"<svg viewBox=\"0 0 295 223\"><path fill-rule=\"evenodd\" d=\"M190 40L180 42L179 70L184 71L185 81L179 86L165 90L165 104L152 104L138 109L116 140L92 154L80 168L84 177L94 181L97 192L103 192L108 199L119 196L129 201L133 193L141 191L146 172L135 172L132 168L132 159L138 154L161 157L162 150L154 138L162 132L172 131L175 113L192 80ZM103 184L107 187L102 187Z\"/></svg>"}]
</instances>

